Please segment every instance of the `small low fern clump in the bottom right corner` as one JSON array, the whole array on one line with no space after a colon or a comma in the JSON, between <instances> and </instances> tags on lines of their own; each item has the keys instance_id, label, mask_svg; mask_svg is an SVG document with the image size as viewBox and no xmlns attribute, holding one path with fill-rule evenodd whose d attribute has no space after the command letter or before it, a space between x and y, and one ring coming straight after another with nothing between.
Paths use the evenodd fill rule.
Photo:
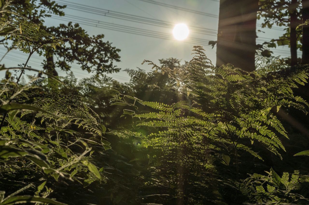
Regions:
<instances>
[{"instance_id":1,"label":"small low fern clump in the bottom right corner","mask_svg":"<svg viewBox=\"0 0 309 205\"><path fill-rule=\"evenodd\" d=\"M268 175L250 174L245 180L237 184L243 195L248 197L245 204L308 204L308 177L283 172L282 177L270 169Z\"/></svg>"}]
</instances>

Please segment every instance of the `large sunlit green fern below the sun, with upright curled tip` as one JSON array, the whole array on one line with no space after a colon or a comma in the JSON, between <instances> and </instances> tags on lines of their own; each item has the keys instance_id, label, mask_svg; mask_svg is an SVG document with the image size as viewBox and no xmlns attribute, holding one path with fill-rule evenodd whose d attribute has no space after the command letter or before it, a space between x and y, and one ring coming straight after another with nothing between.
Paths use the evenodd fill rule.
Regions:
<instances>
[{"instance_id":1,"label":"large sunlit green fern below the sun, with upright curled tip","mask_svg":"<svg viewBox=\"0 0 309 205\"><path fill-rule=\"evenodd\" d=\"M307 113L307 102L294 96L292 88L307 82L308 67L288 68L279 61L247 73L232 65L214 67L202 47L193 51L195 56L185 68L144 61L183 85L190 101L167 105L118 93L114 96L117 105L132 106L124 115L133 117L133 132L112 133L142 137L142 145L151 150L147 171L151 177L145 178L149 189L155 178L160 193L176 197L178 202L215 203L223 200L214 180L220 164L234 164L238 178L238 156L245 155L242 151L263 160L255 149L264 146L281 157L280 150L285 150L281 138L288 135L276 113L282 107ZM136 109L138 104L152 111L141 112ZM203 197L193 192L202 192Z\"/></svg>"}]
</instances>

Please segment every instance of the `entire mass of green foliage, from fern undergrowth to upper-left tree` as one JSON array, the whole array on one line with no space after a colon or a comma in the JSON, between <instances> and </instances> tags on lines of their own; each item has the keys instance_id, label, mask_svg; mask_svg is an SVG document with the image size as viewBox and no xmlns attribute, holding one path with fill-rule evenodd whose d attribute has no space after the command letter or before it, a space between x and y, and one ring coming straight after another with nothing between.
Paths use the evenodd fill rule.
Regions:
<instances>
[{"instance_id":1,"label":"entire mass of green foliage, from fern undergrowth to upper-left tree","mask_svg":"<svg viewBox=\"0 0 309 205\"><path fill-rule=\"evenodd\" d=\"M289 169L301 172L281 169L280 177L271 169L241 180L247 170L269 169L271 160L294 149L288 138L295 133L280 113L307 114L308 103L295 90L307 83L309 68L268 58L274 40L259 47L254 72L231 64L217 68L195 46L184 65L168 58L159 59L160 66L144 61L152 72L125 69L130 81L122 84L98 75L119 71L119 49L103 35L89 36L72 23L44 27L44 18L64 15L65 6L43 0L1 6L8 52L44 55L47 72L19 83L24 69L37 71L28 61L24 68L0 67L6 71L0 84L0 204L308 203L307 166L290 162ZM60 56L55 62L54 55ZM54 77L56 67L68 71L73 62L96 75ZM13 69L22 70L17 81Z\"/></svg>"}]
</instances>

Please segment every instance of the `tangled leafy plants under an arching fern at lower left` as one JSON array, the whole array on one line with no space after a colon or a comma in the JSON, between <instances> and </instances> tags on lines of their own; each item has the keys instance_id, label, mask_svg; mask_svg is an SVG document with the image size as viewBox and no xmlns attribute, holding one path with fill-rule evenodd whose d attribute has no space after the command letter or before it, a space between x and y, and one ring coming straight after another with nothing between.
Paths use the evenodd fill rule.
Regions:
<instances>
[{"instance_id":1,"label":"tangled leafy plants under an arching fern at lower left","mask_svg":"<svg viewBox=\"0 0 309 205\"><path fill-rule=\"evenodd\" d=\"M3 180L13 173L16 180L33 175L27 179L33 183L42 179L52 183L50 177L75 180L83 186L106 180L89 162L89 153L91 146L104 148L108 142L101 142L103 125L85 104L70 96L42 92L15 100L23 106L12 108L17 103L10 102L5 104L9 107L1 106L9 112L7 125L0 131Z\"/></svg>"}]
</instances>

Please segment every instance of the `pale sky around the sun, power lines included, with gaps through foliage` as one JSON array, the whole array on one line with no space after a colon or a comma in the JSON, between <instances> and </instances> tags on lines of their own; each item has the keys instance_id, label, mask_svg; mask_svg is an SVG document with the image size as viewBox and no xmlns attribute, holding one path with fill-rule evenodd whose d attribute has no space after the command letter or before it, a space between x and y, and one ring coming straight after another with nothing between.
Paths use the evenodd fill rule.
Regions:
<instances>
[{"instance_id":1,"label":"pale sky around the sun, power lines included, with gaps through foliage","mask_svg":"<svg viewBox=\"0 0 309 205\"><path fill-rule=\"evenodd\" d=\"M104 41L109 41L121 49L119 53L121 62L116 63L121 70L138 67L149 71L151 69L149 65L141 65L144 59L159 64L158 59L173 57L181 59L181 63L184 63L193 57L191 55L193 45L203 46L205 54L215 64L216 47L212 49L208 41L217 38L219 0L56 0L56 2L68 5L64 9L66 16L47 18L45 25L57 26L59 23L67 24L72 21L80 23L89 35L104 34ZM178 9L171 8L173 6L177 6ZM145 21L148 23L145 24ZM164 24L164 27L158 26L157 22L160 25ZM258 25L261 22L262 20L259 20ZM172 30L177 23L185 23L190 29L188 38L184 41L173 38ZM283 28L279 27L272 29L257 27L257 30L263 31L258 32L257 43L277 38L283 33ZM0 55L4 52L5 49L2 47ZM277 47L273 52L282 57L289 56L287 46ZM301 52L298 53L300 56ZM16 66L18 63L24 63L26 59L26 54L11 51L3 63L6 66ZM41 59L42 57L34 55L28 65L41 69ZM77 64L72 65L71 70L78 79L91 76L91 73L82 71ZM66 72L59 69L57 71L60 76L66 75ZM0 73L0 76L3 74ZM120 82L129 80L124 71L109 76Z\"/></svg>"}]
</instances>

